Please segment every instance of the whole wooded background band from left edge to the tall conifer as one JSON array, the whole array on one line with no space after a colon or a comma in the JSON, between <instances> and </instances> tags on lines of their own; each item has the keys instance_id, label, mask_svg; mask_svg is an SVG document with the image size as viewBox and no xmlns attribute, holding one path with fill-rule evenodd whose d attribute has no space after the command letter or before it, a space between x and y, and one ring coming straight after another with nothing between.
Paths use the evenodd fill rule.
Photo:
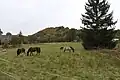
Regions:
<instances>
[{"instance_id":1,"label":"whole wooded background band from left edge to the tall conifer","mask_svg":"<svg viewBox=\"0 0 120 80\"><path fill-rule=\"evenodd\" d=\"M0 29L0 44L4 47L12 45L13 47L20 46L21 44L32 43L49 43L49 42L79 42L80 30L68 27L49 27L41 30L33 35L24 36L20 31L17 35L7 32L3 35L3 31Z\"/></svg>"}]
</instances>

